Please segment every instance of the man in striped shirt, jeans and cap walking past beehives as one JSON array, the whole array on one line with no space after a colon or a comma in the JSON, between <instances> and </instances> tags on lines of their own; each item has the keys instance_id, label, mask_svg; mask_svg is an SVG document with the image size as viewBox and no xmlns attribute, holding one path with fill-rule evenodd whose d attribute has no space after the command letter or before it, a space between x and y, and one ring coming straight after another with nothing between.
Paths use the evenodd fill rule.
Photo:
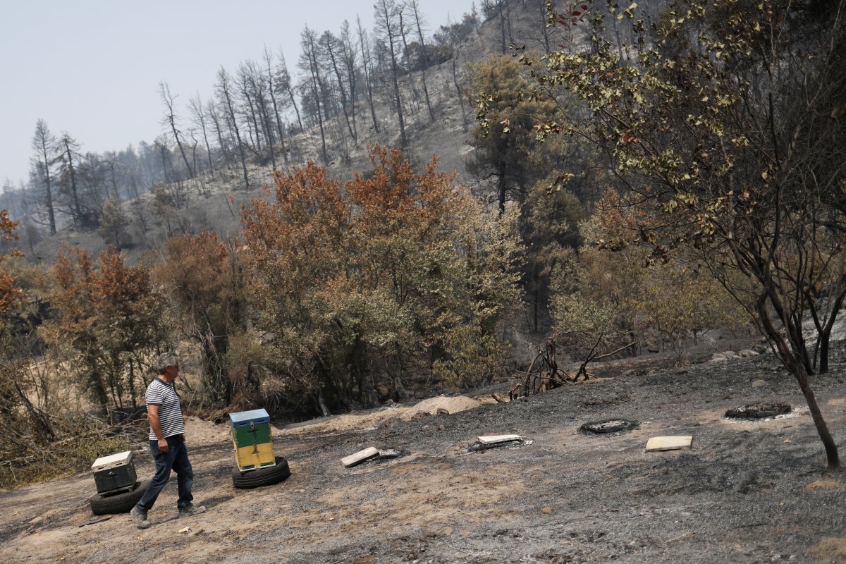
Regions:
<instances>
[{"instance_id":1,"label":"man in striped shirt, jeans and cap walking past beehives","mask_svg":"<svg viewBox=\"0 0 846 564\"><path fill-rule=\"evenodd\" d=\"M163 353L158 358L158 376L147 386L145 394L147 417L150 419L150 451L156 462L156 475L150 480L144 495L135 504L130 515L138 528L147 528L147 512L151 510L156 498L170 479L170 470L176 472L179 486L179 517L188 517L206 511L206 507L195 506L191 501L191 483L194 473L188 460L188 447L185 446L185 424L179 395L173 381L179 375L179 355Z\"/></svg>"}]
</instances>

